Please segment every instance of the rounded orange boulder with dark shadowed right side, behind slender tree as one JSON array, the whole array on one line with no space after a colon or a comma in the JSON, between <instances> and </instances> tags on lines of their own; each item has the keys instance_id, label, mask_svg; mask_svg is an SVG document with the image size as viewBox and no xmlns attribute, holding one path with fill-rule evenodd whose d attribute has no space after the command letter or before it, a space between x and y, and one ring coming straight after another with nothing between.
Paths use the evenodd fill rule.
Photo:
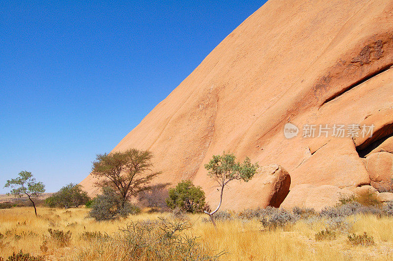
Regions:
<instances>
[{"instance_id":1,"label":"rounded orange boulder with dark shadowed right side, behind slender tree","mask_svg":"<svg viewBox=\"0 0 393 261\"><path fill-rule=\"evenodd\" d=\"M261 167L249 182L231 181L224 189L220 209L243 210L280 207L289 192L291 177L279 165ZM214 209L220 201L220 191L212 189L206 195L207 202ZM258 200L255 201L255 198Z\"/></svg>"}]
</instances>

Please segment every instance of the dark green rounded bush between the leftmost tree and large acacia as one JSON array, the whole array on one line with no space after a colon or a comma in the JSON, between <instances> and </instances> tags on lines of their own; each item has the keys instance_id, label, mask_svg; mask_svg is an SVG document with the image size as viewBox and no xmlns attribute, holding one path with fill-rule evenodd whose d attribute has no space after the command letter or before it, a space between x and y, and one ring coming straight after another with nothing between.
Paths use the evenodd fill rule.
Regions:
<instances>
[{"instance_id":1,"label":"dark green rounded bush between the leftmost tree and large acacia","mask_svg":"<svg viewBox=\"0 0 393 261\"><path fill-rule=\"evenodd\" d=\"M82 190L80 184L69 183L47 198L45 203L51 208L59 207L68 209L85 205L89 199L89 196Z\"/></svg>"}]
</instances>

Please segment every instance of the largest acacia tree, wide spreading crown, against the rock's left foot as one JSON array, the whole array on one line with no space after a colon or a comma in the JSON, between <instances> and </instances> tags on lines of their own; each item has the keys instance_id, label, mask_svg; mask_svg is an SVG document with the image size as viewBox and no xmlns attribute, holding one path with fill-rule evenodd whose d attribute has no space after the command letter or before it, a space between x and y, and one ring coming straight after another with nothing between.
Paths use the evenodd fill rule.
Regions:
<instances>
[{"instance_id":1,"label":"largest acacia tree, wide spreading crown, against the rock's left foot","mask_svg":"<svg viewBox=\"0 0 393 261\"><path fill-rule=\"evenodd\" d=\"M111 187L124 207L131 197L152 189L149 183L161 173L152 171L152 157L151 152L137 149L99 154L92 169L93 175L102 178L96 185Z\"/></svg>"}]
</instances>

